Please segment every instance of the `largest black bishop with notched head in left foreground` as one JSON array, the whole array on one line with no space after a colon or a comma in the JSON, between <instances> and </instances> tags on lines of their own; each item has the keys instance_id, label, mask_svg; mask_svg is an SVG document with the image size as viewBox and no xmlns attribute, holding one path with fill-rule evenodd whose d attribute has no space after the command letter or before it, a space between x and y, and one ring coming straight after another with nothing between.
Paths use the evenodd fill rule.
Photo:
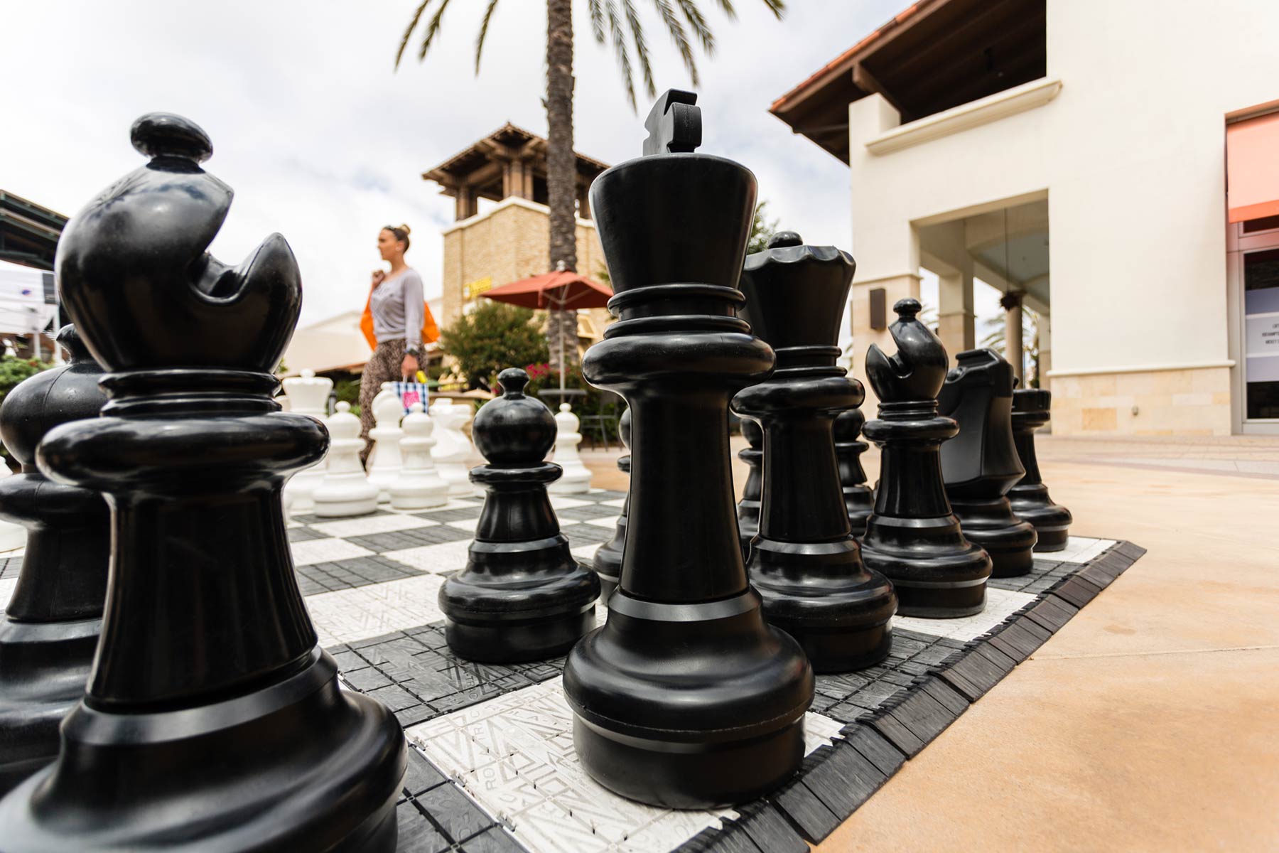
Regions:
<instances>
[{"instance_id":1,"label":"largest black bishop with notched head in left foreground","mask_svg":"<svg viewBox=\"0 0 1279 853\"><path fill-rule=\"evenodd\" d=\"M202 129L153 113L132 138L150 162L58 246L110 400L37 450L50 478L109 496L102 637L58 761L0 802L3 847L394 850L404 735L338 689L285 536L284 481L327 444L271 399L297 262L279 234L237 267L206 252L231 191L198 165Z\"/></svg>"}]
</instances>

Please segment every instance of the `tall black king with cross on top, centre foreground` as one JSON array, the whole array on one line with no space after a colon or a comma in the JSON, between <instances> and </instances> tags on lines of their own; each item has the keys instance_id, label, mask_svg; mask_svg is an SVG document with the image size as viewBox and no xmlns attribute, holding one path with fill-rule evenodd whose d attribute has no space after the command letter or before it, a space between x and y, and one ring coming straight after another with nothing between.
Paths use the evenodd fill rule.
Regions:
<instances>
[{"instance_id":1,"label":"tall black king with cross on top, centre foreground","mask_svg":"<svg viewBox=\"0 0 1279 853\"><path fill-rule=\"evenodd\" d=\"M813 691L742 564L728 403L774 357L737 317L755 175L693 153L694 101L666 92L646 121L646 156L591 187L619 320L582 368L631 404L631 513L609 619L564 666L586 771L674 808L742 802L790 776Z\"/></svg>"}]
</instances>

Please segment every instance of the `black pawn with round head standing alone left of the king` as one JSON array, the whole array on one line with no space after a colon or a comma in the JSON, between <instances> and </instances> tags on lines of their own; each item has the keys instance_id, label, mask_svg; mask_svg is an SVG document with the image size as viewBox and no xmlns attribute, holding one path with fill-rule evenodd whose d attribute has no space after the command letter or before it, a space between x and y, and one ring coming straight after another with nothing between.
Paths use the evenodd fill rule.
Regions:
<instances>
[{"instance_id":1,"label":"black pawn with round head standing alone left of the king","mask_svg":"<svg viewBox=\"0 0 1279 853\"><path fill-rule=\"evenodd\" d=\"M480 407L471 426L489 460L471 469L487 495L467 567L440 587L444 636L459 657L513 664L563 655L595 627L600 579L578 565L560 532L546 486L561 469L544 462L555 418L526 396L528 373L498 375L501 396Z\"/></svg>"}]
</instances>

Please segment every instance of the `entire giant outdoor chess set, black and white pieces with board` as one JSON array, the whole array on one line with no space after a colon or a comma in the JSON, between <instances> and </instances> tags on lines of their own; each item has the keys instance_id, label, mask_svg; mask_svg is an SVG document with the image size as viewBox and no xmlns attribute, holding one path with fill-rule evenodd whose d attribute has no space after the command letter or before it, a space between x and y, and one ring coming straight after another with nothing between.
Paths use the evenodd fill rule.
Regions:
<instances>
[{"instance_id":1,"label":"entire giant outdoor chess set, black and white pieces with board","mask_svg":"<svg viewBox=\"0 0 1279 853\"><path fill-rule=\"evenodd\" d=\"M1069 535L1050 395L913 299L862 412L853 258L747 256L696 97L646 127L591 189L623 492L518 368L477 412L388 384L367 468L327 380L281 411L288 244L212 258L207 136L134 124L59 244L69 363L0 407L0 848L799 853L1142 554Z\"/></svg>"}]
</instances>

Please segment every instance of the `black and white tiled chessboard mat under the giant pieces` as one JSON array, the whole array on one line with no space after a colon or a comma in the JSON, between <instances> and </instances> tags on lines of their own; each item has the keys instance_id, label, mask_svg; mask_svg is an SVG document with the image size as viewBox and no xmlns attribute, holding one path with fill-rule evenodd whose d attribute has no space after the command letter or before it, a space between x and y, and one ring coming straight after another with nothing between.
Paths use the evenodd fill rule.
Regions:
<instances>
[{"instance_id":1,"label":"black and white tiled chessboard mat under the giant pieces","mask_svg":"<svg viewBox=\"0 0 1279 853\"><path fill-rule=\"evenodd\" d=\"M624 499L551 496L578 559L613 537ZM735 808L670 811L623 799L581 769L561 657L494 666L449 652L436 597L466 564L481 504L289 522L298 586L341 685L376 697L404 726L403 853L803 853L1145 552L1071 537L1064 551L1036 555L1030 574L991 578L976 616L895 618L883 665L817 677L794 779ZM0 604L19 568L20 551L0 554ZM606 619L602 606L596 618Z\"/></svg>"}]
</instances>

